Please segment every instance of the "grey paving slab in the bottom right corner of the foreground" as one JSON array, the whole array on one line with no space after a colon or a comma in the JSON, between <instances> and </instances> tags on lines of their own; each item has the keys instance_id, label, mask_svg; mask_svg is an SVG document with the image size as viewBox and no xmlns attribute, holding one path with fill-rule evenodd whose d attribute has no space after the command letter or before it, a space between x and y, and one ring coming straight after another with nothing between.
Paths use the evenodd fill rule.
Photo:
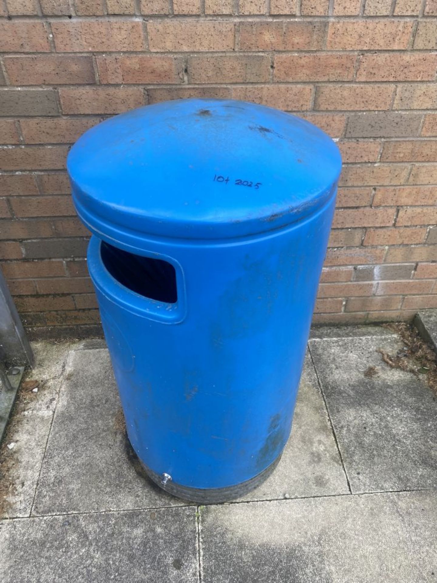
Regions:
<instances>
[{"instance_id":1,"label":"grey paving slab in the bottom right corner of the foreground","mask_svg":"<svg viewBox=\"0 0 437 583\"><path fill-rule=\"evenodd\" d=\"M422 583L437 577L435 491L209 506L203 583Z\"/></svg>"}]
</instances>

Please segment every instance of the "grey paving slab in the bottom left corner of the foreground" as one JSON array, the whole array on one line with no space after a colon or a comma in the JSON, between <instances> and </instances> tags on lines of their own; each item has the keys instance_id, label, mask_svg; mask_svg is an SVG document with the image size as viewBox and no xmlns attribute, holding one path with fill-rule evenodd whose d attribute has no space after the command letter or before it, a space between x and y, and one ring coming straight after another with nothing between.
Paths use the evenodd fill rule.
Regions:
<instances>
[{"instance_id":1,"label":"grey paving slab in the bottom left corner of the foreground","mask_svg":"<svg viewBox=\"0 0 437 583\"><path fill-rule=\"evenodd\" d=\"M2 583L198 582L195 508L0 523Z\"/></svg>"}]
</instances>

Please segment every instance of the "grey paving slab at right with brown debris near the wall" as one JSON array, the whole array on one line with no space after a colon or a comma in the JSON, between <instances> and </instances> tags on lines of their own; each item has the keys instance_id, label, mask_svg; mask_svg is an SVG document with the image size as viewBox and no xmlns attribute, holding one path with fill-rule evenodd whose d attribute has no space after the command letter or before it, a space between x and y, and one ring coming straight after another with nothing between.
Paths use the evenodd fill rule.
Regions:
<instances>
[{"instance_id":1,"label":"grey paving slab at right with brown debris near the wall","mask_svg":"<svg viewBox=\"0 0 437 583\"><path fill-rule=\"evenodd\" d=\"M437 486L436 395L420 375L390 368L376 352L396 354L400 340L310 340L309 347L353 493ZM369 367L375 376L365 376Z\"/></svg>"}]
</instances>

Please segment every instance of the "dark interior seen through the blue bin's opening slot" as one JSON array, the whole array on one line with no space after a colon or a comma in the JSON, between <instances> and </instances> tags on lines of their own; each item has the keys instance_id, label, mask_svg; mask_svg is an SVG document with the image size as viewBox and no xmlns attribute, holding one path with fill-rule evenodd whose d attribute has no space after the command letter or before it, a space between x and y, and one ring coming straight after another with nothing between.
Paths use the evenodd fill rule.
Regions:
<instances>
[{"instance_id":1,"label":"dark interior seen through the blue bin's opening slot","mask_svg":"<svg viewBox=\"0 0 437 583\"><path fill-rule=\"evenodd\" d=\"M100 254L105 268L121 285L151 300L177 302L176 272L167 261L134 255L104 242Z\"/></svg>"}]
</instances>

